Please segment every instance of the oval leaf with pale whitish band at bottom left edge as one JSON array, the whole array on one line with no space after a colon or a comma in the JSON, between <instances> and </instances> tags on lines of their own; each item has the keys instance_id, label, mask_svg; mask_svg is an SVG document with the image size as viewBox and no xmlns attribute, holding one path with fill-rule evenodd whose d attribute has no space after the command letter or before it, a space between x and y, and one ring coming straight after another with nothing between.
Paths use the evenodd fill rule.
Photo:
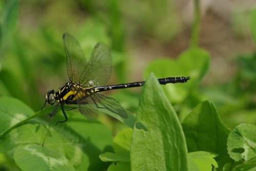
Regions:
<instances>
[{"instance_id":1,"label":"oval leaf with pale whitish band at bottom left edge","mask_svg":"<svg viewBox=\"0 0 256 171\"><path fill-rule=\"evenodd\" d=\"M75 170L72 163L56 151L38 144L22 145L14 152L17 165L28 170Z\"/></svg>"}]
</instances>

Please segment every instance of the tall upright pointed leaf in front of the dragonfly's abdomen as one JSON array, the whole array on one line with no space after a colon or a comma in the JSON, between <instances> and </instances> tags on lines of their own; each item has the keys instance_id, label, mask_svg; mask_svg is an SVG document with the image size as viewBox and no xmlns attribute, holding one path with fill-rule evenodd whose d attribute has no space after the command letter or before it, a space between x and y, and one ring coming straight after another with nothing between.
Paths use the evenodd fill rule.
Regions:
<instances>
[{"instance_id":1,"label":"tall upright pointed leaf in front of the dragonfly's abdomen","mask_svg":"<svg viewBox=\"0 0 256 171\"><path fill-rule=\"evenodd\" d=\"M156 77L142 88L136 122L147 131L133 131L131 168L135 170L188 170L187 148L179 119Z\"/></svg>"}]
</instances>

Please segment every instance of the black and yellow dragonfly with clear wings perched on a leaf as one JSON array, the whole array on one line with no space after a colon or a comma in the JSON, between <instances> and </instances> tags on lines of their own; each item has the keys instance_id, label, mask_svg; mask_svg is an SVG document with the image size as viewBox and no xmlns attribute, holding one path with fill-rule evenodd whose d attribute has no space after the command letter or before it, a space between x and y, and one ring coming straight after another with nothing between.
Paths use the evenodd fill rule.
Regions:
<instances>
[{"instance_id":1,"label":"black and yellow dragonfly with clear wings perched on a leaf","mask_svg":"<svg viewBox=\"0 0 256 171\"><path fill-rule=\"evenodd\" d=\"M68 120L63 107L65 104L77 105L80 113L89 120L94 120L98 117L99 108L108 109L123 118L127 118L127 113L118 101L99 92L140 87L144 85L144 81L105 86L112 72L112 58L108 45L103 42L97 43L93 48L88 63L86 62L80 44L73 36L68 33L63 34L63 45L67 56L69 82L63 85L58 91L54 91L54 89L49 90L46 93L45 105L42 108L46 106L46 103L50 105L56 103L56 107L49 114L53 116L58 106L61 106L66 119L58 121L57 124L64 123ZM165 85L168 83L185 83L189 79L190 77L169 77L158 79L158 81L160 84Z\"/></svg>"}]
</instances>

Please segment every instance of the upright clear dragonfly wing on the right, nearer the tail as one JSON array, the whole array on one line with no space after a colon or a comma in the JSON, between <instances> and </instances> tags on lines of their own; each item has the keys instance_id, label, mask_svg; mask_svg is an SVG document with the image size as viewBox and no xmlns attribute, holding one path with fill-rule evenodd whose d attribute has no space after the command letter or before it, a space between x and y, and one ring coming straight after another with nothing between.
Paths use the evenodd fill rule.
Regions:
<instances>
[{"instance_id":1,"label":"upright clear dragonfly wing on the right, nearer the tail","mask_svg":"<svg viewBox=\"0 0 256 171\"><path fill-rule=\"evenodd\" d=\"M109 81L112 71L110 48L103 42L95 45L91 59L82 72L80 83L84 86L104 86Z\"/></svg>"}]
</instances>

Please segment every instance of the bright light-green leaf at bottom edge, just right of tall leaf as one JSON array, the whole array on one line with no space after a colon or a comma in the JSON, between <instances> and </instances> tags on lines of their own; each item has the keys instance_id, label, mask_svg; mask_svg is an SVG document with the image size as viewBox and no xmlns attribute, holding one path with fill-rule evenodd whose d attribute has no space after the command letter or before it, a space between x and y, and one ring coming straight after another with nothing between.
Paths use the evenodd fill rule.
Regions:
<instances>
[{"instance_id":1,"label":"bright light-green leaf at bottom edge, just right of tall leaf","mask_svg":"<svg viewBox=\"0 0 256 171\"><path fill-rule=\"evenodd\" d=\"M211 171L212 166L218 167L217 162L215 161L214 157L217 157L218 155L209 153L209 152L192 152L188 153L188 155L193 159L193 161L197 164L197 166L202 171Z\"/></svg>"}]
</instances>

